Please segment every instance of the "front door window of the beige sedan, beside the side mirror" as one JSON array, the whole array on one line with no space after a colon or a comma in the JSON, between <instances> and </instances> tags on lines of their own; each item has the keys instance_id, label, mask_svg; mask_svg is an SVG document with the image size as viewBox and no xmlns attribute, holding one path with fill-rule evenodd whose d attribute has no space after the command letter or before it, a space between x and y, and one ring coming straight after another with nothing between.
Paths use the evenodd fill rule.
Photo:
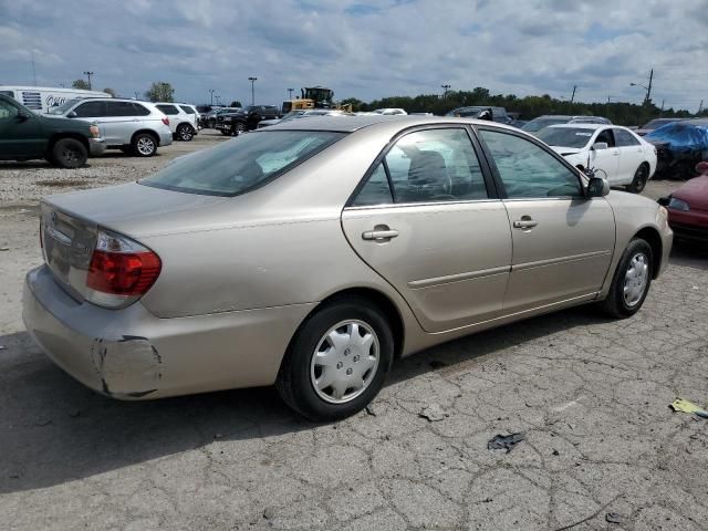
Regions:
<instances>
[{"instance_id":1,"label":"front door window of the beige sedan, beside the side mirror","mask_svg":"<svg viewBox=\"0 0 708 531\"><path fill-rule=\"evenodd\" d=\"M516 198L581 196L577 175L525 138L480 131L507 195Z\"/></svg>"}]
</instances>

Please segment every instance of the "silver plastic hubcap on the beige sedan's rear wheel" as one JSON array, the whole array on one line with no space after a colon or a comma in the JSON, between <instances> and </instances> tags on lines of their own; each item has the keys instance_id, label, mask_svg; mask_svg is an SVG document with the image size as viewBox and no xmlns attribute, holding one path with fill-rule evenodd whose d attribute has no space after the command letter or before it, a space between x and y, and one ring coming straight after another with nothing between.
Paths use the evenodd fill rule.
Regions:
<instances>
[{"instance_id":1,"label":"silver plastic hubcap on the beige sedan's rear wheel","mask_svg":"<svg viewBox=\"0 0 708 531\"><path fill-rule=\"evenodd\" d=\"M310 381L320 398L344 404L360 396L378 368L378 337L366 323L342 321L322 336L312 355Z\"/></svg>"}]
</instances>

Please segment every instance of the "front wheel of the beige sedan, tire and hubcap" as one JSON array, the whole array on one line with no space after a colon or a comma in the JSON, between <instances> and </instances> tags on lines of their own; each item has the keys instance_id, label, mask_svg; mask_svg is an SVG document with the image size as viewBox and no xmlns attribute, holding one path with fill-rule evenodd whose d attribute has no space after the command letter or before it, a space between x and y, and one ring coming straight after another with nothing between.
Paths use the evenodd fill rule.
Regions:
<instances>
[{"instance_id":1,"label":"front wheel of the beige sedan, tire and hubcap","mask_svg":"<svg viewBox=\"0 0 708 531\"><path fill-rule=\"evenodd\" d=\"M653 258L652 247L645 240L634 238L629 241L617 263L607 299L600 304L604 313L626 319L639 311L652 285Z\"/></svg>"}]
</instances>

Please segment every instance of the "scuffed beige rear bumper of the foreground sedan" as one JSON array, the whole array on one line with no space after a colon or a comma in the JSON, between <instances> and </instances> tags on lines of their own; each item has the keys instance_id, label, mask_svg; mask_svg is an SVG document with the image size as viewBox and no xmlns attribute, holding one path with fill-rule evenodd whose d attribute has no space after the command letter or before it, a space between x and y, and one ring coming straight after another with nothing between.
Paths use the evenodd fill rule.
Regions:
<instances>
[{"instance_id":1,"label":"scuffed beige rear bumper of the foreground sedan","mask_svg":"<svg viewBox=\"0 0 708 531\"><path fill-rule=\"evenodd\" d=\"M158 319L139 302L122 310L67 295L46 266L27 274L28 332L82 384L122 399L270 385L314 304Z\"/></svg>"}]
</instances>

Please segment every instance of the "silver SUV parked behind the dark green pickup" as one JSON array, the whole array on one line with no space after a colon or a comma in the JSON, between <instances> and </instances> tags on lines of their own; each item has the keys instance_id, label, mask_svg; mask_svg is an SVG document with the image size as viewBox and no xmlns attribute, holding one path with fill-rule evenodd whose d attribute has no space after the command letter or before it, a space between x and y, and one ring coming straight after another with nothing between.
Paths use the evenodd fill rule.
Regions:
<instances>
[{"instance_id":1,"label":"silver SUV parked behind the dark green pickup","mask_svg":"<svg viewBox=\"0 0 708 531\"><path fill-rule=\"evenodd\" d=\"M97 124L108 148L152 157L158 146L173 143L169 118L153 103L114 97L70 100L46 116Z\"/></svg>"}]
</instances>

